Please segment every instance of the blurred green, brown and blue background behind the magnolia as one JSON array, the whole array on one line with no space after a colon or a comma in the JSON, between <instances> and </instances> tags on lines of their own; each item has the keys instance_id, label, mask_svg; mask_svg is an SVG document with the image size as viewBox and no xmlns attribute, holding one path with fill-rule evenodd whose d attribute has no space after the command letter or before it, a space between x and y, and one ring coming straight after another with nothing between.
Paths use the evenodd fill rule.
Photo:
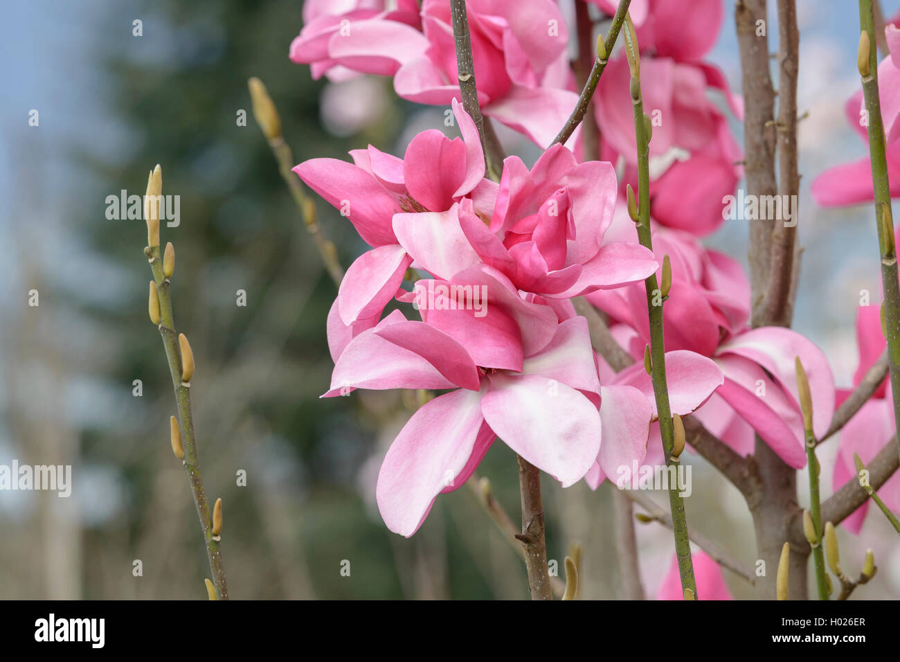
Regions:
<instances>
[{"instance_id":1,"label":"blurred green, brown and blue background behind the magnolia","mask_svg":"<svg viewBox=\"0 0 900 662\"><path fill-rule=\"evenodd\" d=\"M247 77L268 86L296 162L347 158L367 143L401 154L416 131L456 131L444 127L443 109L401 102L384 78L312 81L309 68L287 58L302 26L298 2L85 0L16 4L11 12L0 28L0 67L14 101L4 104L0 125L0 464L71 464L74 489L70 499L0 492L0 598L205 598L209 567L196 512L167 438L175 400L147 318L146 230L104 215L108 195L142 195L157 163L164 195L180 196L180 225L164 226L162 240L175 245L175 326L196 358L200 463L207 493L224 503L232 596L527 597L523 564L468 486L440 497L410 540L384 527L375 478L411 410L396 393L319 398L332 367L325 318L336 289L250 115ZM132 35L135 19L141 37ZM716 52L728 53L723 64L736 81L730 21ZM855 50L847 52L852 73ZM844 91L835 98L842 102ZM842 119L840 104L832 105ZM31 108L40 110L39 127L27 126ZM242 110L246 126L238 125ZM849 128L843 136L853 140ZM501 138L534 159L533 146L508 131ZM346 267L364 245L329 205L317 199L317 207ZM712 244L740 257L739 225ZM856 236L870 245L868 234ZM827 255L819 235L806 239ZM850 243L839 242L838 253ZM809 259L804 268L814 284L829 269L827 260ZM835 334L814 340L842 349L851 369L851 295L859 288L850 281L840 311L804 304L798 317ZM815 290L819 301L827 287ZM26 305L31 289L40 292L36 308ZM238 290L246 306L237 305ZM743 500L702 460L691 461L691 523L752 564ZM237 485L240 469L247 486ZM490 476L518 521L511 451L495 444L479 475ZM582 597L617 597L609 485L563 492L545 477L544 490L548 556L562 574L569 546L580 542ZM847 543L849 567L857 548L872 546L867 536L885 536L877 517L866 526L863 540ZM638 537L652 597L671 563L671 533L650 524ZM132 573L137 559L142 576ZM350 576L341 574L345 561ZM860 597L896 594L900 567L891 568ZM735 595L752 595L725 577Z\"/></svg>"}]
</instances>

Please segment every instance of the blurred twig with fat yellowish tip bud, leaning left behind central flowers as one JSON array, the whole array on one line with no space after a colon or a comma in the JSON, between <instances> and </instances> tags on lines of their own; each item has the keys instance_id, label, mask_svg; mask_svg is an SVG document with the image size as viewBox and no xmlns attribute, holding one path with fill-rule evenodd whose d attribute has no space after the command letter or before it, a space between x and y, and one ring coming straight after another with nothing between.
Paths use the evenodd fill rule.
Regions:
<instances>
[{"instance_id":1,"label":"blurred twig with fat yellowish tip bud, leaning left behind central flowers","mask_svg":"<svg viewBox=\"0 0 900 662\"><path fill-rule=\"evenodd\" d=\"M281 173L284 183L287 184L288 190L291 192L293 201L300 210L303 224L306 225L307 231L310 232L312 240L316 243L316 249L322 257L326 270L329 272L331 280L336 286L340 286L344 279L344 269L341 268L338 261L338 250L334 243L325 239L322 234L318 216L316 214L316 204L306 195L303 185L300 183L300 177L297 177L291 168L293 168L293 153L291 147L284 141L282 135L281 119L275 108L275 102L269 96L266 86L259 78L250 78L247 81L247 87L250 89L250 98L253 101L253 114L257 119L260 129L266 136L275 161L278 163L278 172Z\"/></svg>"}]
</instances>

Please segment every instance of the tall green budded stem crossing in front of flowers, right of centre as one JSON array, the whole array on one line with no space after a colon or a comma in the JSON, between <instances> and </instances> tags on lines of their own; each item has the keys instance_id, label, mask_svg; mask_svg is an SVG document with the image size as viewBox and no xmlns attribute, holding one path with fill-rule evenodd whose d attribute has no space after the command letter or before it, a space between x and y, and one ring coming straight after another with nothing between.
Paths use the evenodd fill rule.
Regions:
<instances>
[{"instance_id":1,"label":"tall green budded stem crossing in front of flowers, right of centre","mask_svg":"<svg viewBox=\"0 0 900 662\"><path fill-rule=\"evenodd\" d=\"M625 31L628 48L632 49L635 56L638 47ZM653 250L653 238L650 231L650 139L647 136L644 123L644 102L641 98L640 82L632 77L632 101L635 106L635 141L637 144L637 175L638 175L638 223L637 236L644 248ZM660 433L662 434L662 448L666 453L666 466L678 462L672 461L672 449L674 447L674 427L672 423L671 409L669 405L669 387L666 383L666 354L664 345L664 329L662 323L662 297L654 272L644 280L644 288L647 294L647 307L650 311L650 349L653 378L653 394L656 396L656 411L660 419ZM654 304L654 301L657 303ZM672 483L676 483L672 485ZM684 510L684 499L679 493L677 481L670 481L669 503L672 513L672 531L675 535L675 554L678 557L681 588L690 589L695 599L699 599L697 582L694 578L694 563L690 556L690 538L688 533L688 518Z\"/></svg>"}]
</instances>

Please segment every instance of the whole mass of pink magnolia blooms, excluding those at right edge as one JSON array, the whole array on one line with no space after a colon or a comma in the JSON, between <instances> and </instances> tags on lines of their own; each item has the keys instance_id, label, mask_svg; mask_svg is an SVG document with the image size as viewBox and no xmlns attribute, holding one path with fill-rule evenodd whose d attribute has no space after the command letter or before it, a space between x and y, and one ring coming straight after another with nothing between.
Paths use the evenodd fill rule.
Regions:
<instances>
[{"instance_id":1,"label":"whole mass of pink magnolia blooms, excluding those at right edge","mask_svg":"<svg viewBox=\"0 0 900 662\"><path fill-rule=\"evenodd\" d=\"M608 14L617 5L591 4ZM624 54L612 54L594 96L601 138L590 151L601 160L578 158L587 150L576 131L531 168L505 159L493 182L476 126L457 101L450 3L390 5L309 0L290 51L314 77L391 76L402 98L452 107L461 134L422 131L402 157L369 146L351 151L352 162L311 159L294 168L370 247L347 269L329 313L335 368L326 395L441 392L384 458L377 502L388 527L417 531L437 495L463 485L497 438L563 486L583 478L596 487L618 467L662 463L643 361L613 371L591 348L572 297L605 313L640 359L650 342L648 306L662 305L648 303L643 281L660 274L665 255L671 412L694 413L741 454L759 435L788 465L804 467L795 358L809 376L816 434L834 411L831 367L795 331L751 329L743 268L698 240L720 225L723 198L741 176L741 151L720 106L740 117L743 103L704 60L721 28L722 0L631 4L653 122L655 254L638 243L620 195L626 184L637 188ZM547 147L578 98L560 7L466 6L482 112Z\"/></svg>"}]
</instances>

